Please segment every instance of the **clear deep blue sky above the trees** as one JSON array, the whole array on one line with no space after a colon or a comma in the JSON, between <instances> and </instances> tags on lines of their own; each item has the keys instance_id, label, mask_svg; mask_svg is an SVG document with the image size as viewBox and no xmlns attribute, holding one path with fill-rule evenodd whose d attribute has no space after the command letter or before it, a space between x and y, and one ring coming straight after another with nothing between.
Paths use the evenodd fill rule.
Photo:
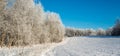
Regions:
<instances>
[{"instance_id":1,"label":"clear deep blue sky above the trees","mask_svg":"<svg viewBox=\"0 0 120 56\"><path fill-rule=\"evenodd\" d=\"M45 10L59 13L66 27L107 29L120 17L120 0L40 1Z\"/></svg>"}]
</instances>

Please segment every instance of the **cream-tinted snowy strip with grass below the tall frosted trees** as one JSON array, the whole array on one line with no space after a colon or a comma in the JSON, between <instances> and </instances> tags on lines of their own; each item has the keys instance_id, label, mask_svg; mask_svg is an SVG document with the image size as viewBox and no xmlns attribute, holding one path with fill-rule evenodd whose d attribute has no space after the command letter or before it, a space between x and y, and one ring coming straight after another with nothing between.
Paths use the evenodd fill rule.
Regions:
<instances>
[{"instance_id":1,"label":"cream-tinted snowy strip with grass below the tall frosted trees","mask_svg":"<svg viewBox=\"0 0 120 56\"><path fill-rule=\"evenodd\" d=\"M44 56L46 52L55 46L56 44L42 44L26 47L2 47L0 48L0 56Z\"/></svg>"}]
</instances>

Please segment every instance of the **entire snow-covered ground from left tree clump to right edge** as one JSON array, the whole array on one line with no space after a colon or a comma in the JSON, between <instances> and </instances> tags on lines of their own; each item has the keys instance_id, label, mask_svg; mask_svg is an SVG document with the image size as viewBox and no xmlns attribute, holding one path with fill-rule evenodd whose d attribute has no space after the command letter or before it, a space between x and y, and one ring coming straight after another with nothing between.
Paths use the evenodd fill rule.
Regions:
<instances>
[{"instance_id":1,"label":"entire snow-covered ground from left tree clump to right edge","mask_svg":"<svg viewBox=\"0 0 120 56\"><path fill-rule=\"evenodd\" d=\"M0 56L120 56L120 38L72 37L59 44L4 47Z\"/></svg>"}]
</instances>

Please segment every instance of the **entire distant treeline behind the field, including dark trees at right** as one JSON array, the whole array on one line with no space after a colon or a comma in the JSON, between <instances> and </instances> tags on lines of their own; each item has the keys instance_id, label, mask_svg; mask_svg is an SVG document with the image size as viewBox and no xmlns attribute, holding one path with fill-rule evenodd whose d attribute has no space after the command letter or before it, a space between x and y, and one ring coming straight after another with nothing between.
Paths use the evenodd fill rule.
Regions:
<instances>
[{"instance_id":1,"label":"entire distant treeline behind the field, including dark trees at right","mask_svg":"<svg viewBox=\"0 0 120 56\"><path fill-rule=\"evenodd\" d=\"M111 27L107 30L99 28L98 30L94 29L76 29L67 27L65 36L120 36L120 19L117 20L114 27Z\"/></svg>"}]
</instances>

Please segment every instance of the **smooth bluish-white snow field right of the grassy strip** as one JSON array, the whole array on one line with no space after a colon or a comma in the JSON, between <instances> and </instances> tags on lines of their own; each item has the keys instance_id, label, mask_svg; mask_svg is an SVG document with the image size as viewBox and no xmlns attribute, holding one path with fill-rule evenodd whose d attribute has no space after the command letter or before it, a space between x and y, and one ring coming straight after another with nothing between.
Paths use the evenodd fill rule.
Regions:
<instances>
[{"instance_id":1,"label":"smooth bluish-white snow field right of the grassy strip","mask_svg":"<svg viewBox=\"0 0 120 56\"><path fill-rule=\"evenodd\" d=\"M120 56L120 38L69 38L45 56Z\"/></svg>"}]
</instances>

